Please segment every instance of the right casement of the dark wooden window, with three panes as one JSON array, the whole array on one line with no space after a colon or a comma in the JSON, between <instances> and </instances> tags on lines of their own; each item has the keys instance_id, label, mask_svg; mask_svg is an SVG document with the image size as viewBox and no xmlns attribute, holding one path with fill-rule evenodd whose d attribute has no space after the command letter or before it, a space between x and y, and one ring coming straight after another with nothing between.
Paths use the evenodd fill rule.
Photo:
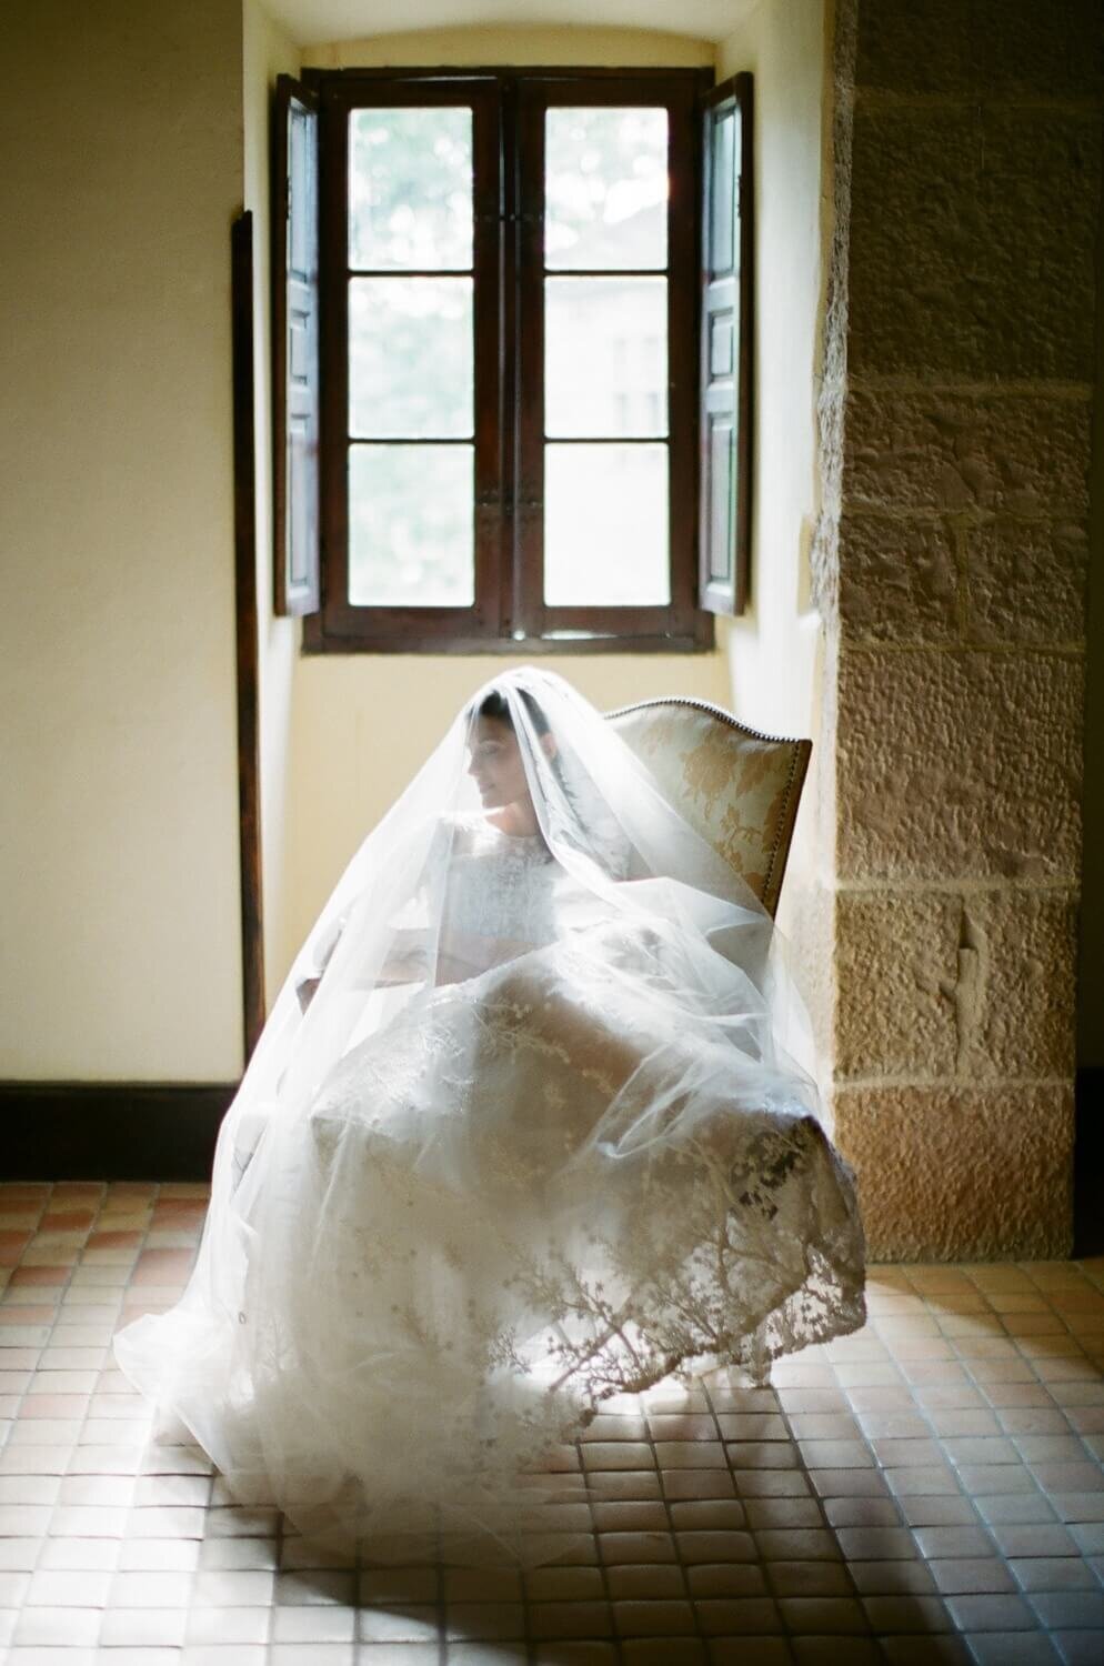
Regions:
<instances>
[{"instance_id":1,"label":"right casement of the dark wooden window, with three panes","mask_svg":"<svg viewBox=\"0 0 1104 1666\"><path fill-rule=\"evenodd\" d=\"M698 77L518 87L515 606L694 646Z\"/></svg>"}]
</instances>

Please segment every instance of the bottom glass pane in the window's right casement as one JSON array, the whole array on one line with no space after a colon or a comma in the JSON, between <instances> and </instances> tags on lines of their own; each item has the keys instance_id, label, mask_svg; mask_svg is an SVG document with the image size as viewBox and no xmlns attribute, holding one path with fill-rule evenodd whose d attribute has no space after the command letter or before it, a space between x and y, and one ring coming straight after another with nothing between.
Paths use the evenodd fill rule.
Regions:
<instances>
[{"instance_id":1,"label":"bottom glass pane in the window's right casement","mask_svg":"<svg viewBox=\"0 0 1104 1666\"><path fill-rule=\"evenodd\" d=\"M545 446L545 601L666 606L666 445Z\"/></svg>"}]
</instances>

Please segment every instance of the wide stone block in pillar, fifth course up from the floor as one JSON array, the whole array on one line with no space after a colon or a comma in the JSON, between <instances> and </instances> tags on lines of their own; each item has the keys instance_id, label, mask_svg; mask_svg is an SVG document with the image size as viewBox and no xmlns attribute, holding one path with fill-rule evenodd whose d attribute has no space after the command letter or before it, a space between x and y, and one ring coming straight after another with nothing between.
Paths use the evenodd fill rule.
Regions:
<instances>
[{"instance_id":1,"label":"wide stone block in pillar, fifth course up from the floor","mask_svg":"<svg viewBox=\"0 0 1104 1666\"><path fill-rule=\"evenodd\" d=\"M853 387L844 508L1084 520L1089 446L1087 398Z\"/></svg>"}]
</instances>

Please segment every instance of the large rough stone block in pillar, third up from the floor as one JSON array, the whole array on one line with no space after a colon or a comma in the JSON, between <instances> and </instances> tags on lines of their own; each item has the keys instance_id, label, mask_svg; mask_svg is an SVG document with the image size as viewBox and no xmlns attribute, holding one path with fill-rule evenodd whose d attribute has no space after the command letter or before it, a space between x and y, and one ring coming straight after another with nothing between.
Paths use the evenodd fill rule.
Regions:
<instances>
[{"instance_id":1,"label":"large rough stone block in pillar, third up from the floor","mask_svg":"<svg viewBox=\"0 0 1104 1666\"><path fill-rule=\"evenodd\" d=\"M1076 656L843 648L841 880L1051 880L1081 841Z\"/></svg>"}]
</instances>

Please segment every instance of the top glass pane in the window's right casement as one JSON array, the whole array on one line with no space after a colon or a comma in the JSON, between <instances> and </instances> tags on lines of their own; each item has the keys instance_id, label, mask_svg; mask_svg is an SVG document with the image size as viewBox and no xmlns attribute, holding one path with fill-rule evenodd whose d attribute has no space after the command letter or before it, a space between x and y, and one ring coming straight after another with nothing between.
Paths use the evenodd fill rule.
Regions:
<instances>
[{"instance_id":1,"label":"top glass pane in the window's right casement","mask_svg":"<svg viewBox=\"0 0 1104 1666\"><path fill-rule=\"evenodd\" d=\"M668 113L589 105L546 112L545 265L668 263Z\"/></svg>"}]
</instances>

